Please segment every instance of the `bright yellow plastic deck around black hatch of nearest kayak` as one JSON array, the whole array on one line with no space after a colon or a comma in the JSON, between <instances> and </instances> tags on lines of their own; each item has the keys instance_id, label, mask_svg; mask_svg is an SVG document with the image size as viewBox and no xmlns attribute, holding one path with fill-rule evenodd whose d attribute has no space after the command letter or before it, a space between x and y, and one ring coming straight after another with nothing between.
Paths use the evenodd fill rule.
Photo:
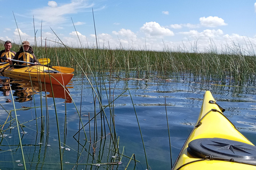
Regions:
<instances>
[{"instance_id":1,"label":"bright yellow plastic deck around black hatch of nearest kayak","mask_svg":"<svg viewBox=\"0 0 256 170\"><path fill-rule=\"evenodd\" d=\"M244 142L250 145L253 145L249 140L247 140L243 134L241 134L238 130L236 130L235 126L222 114L220 108L217 104L210 104L209 101L215 99L213 98L210 91L206 91L204 95L204 100L201 108L201 112L199 114L197 123L199 120L201 125L198 128L194 129L191 133L190 137L188 137L187 143L183 150L181 150L180 157L177 158L177 162L175 163L173 169L177 169L180 166L193 162L195 160L199 160L201 158L195 158L188 154L187 148L188 143L192 140L199 139L199 138L224 138L229 140L235 140L239 142ZM211 109L217 109L217 111L221 112L213 112ZM207 112L211 111L210 113L206 114ZM206 115L205 115L206 114ZM205 117L204 117L205 115ZM255 160L256 161L256 160ZM225 162L222 160L203 160L201 162L191 163L188 164L180 169L188 170L198 170L198 169L205 169L205 170L220 170L220 169L256 169L256 166L253 165L246 165L240 163L231 163Z\"/></svg>"}]
</instances>

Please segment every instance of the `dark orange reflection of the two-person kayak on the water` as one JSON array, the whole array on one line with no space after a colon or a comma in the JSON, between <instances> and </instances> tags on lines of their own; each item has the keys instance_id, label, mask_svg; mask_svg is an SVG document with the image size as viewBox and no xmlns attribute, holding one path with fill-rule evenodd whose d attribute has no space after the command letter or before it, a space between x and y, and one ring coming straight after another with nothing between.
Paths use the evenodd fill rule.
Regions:
<instances>
[{"instance_id":1,"label":"dark orange reflection of the two-person kayak on the water","mask_svg":"<svg viewBox=\"0 0 256 170\"><path fill-rule=\"evenodd\" d=\"M0 77L0 91L4 96L10 96L10 87L13 91L14 101L20 103L33 100L33 96L45 92L46 97L62 98L66 103L71 103L71 97L67 88L55 84L39 84L31 83L27 80L14 80L10 78ZM11 102L6 99L6 103Z\"/></svg>"}]
</instances>

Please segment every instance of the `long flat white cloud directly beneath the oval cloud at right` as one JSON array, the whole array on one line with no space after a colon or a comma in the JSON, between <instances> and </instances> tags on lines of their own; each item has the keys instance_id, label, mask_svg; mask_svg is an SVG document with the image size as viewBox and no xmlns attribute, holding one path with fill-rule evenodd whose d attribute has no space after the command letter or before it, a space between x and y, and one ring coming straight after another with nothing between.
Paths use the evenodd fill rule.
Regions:
<instances>
[{"instance_id":1,"label":"long flat white cloud directly beneath the oval cloud at right","mask_svg":"<svg viewBox=\"0 0 256 170\"><path fill-rule=\"evenodd\" d=\"M203 38L203 39L209 39L209 38L216 38L220 37L223 35L223 31L218 29L218 30L204 30L202 32L198 32L197 30L190 30L189 32L180 32L182 35L186 35L188 37L198 39L198 38Z\"/></svg>"}]
</instances>

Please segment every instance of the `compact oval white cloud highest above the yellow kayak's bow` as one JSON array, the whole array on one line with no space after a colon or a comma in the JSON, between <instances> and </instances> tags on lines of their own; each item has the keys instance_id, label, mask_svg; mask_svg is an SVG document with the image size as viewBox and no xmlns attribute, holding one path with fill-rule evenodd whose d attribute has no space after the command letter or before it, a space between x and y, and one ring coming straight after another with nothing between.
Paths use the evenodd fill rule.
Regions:
<instances>
[{"instance_id":1,"label":"compact oval white cloud highest above the yellow kayak's bow","mask_svg":"<svg viewBox=\"0 0 256 170\"><path fill-rule=\"evenodd\" d=\"M201 17L199 18L201 25L204 27L218 27L222 25L227 25L222 18L218 16L208 16L207 18Z\"/></svg>"}]
</instances>

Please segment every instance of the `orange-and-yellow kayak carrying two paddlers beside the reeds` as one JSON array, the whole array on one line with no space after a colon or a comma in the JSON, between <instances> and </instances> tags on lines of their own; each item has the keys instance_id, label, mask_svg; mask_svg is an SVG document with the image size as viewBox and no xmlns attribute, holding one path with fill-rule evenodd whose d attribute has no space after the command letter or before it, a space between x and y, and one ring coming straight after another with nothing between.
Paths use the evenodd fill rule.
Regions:
<instances>
[{"instance_id":1,"label":"orange-and-yellow kayak carrying two paddlers beside the reeds","mask_svg":"<svg viewBox=\"0 0 256 170\"><path fill-rule=\"evenodd\" d=\"M35 82L57 85L63 84L63 86L66 86L74 76L72 73L61 73L43 65L24 66L19 69L14 69L14 67L0 66L0 68L1 67L0 72L6 77L22 78L26 80L31 79L31 81Z\"/></svg>"}]
</instances>

